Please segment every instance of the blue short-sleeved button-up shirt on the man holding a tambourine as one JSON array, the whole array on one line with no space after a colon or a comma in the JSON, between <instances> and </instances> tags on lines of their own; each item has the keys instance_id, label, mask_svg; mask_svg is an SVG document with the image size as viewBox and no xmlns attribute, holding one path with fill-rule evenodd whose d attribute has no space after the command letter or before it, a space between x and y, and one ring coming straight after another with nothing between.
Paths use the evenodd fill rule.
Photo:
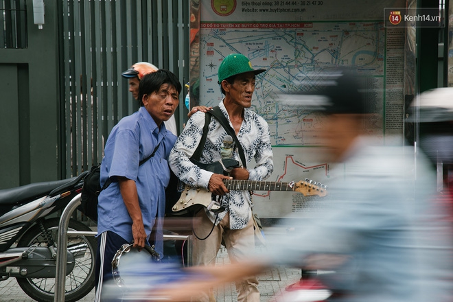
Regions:
<instances>
[{"instance_id":1,"label":"blue short-sleeved button-up shirt on the man holding a tambourine","mask_svg":"<svg viewBox=\"0 0 453 302\"><path fill-rule=\"evenodd\" d=\"M107 178L113 183L99 196L97 207L97 233L113 231L128 242L132 242L132 219L119 191L117 176L124 176L137 185L139 205L146 234L150 236L156 227L155 249L163 255L162 219L165 214L165 187L170 180L167 159L176 136L166 130L164 124L159 129L146 108L124 117L108 136L101 165L101 186ZM154 156L139 166L142 159Z\"/></svg>"}]
</instances>

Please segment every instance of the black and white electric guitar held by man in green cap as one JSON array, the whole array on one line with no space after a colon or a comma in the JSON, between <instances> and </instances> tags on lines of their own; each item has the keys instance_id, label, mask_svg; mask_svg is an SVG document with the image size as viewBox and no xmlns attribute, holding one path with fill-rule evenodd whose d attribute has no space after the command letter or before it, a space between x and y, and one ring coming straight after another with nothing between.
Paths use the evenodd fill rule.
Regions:
<instances>
[{"instance_id":1,"label":"black and white electric guitar held by man in green cap","mask_svg":"<svg viewBox=\"0 0 453 302\"><path fill-rule=\"evenodd\" d=\"M222 159L211 164L196 163L203 170L223 174L230 172L239 163L234 159ZM305 178L305 181L294 183L273 182L273 181L244 181L239 179L225 179L225 187L234 191L296 191L304 196L326 196L327 186L311 181ZM187 213L187 210L193 207L205 207L214 213L224 211L224 207L216 200L216 195L202 187L191 187L184 185L181 197L172 207L174 214Z\"/></svg>"}]
</instances>

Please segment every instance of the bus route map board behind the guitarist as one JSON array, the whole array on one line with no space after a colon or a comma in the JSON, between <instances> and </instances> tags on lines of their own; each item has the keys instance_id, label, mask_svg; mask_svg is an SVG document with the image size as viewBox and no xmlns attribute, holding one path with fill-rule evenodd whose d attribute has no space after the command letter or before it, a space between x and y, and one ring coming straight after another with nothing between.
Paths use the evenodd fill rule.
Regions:
<instances>
[{"instance_id":1,"label":"bus route map board behind the guitarist","mask_svg":"<svg viewBox=\"0 0 453 302\"><path fill-rule=\"evenodd\" d=\"M401 140L404 115L405 28L385 27L384 8L406 1L199 1L199 104L222 100L218 67L231 53L247 56L257 75L251 110L270 127L275 169L267 181L303 181L328 186L336 169L323 162L316 130L317 113L281 104L278 95L316 86L310 74L339 66L367 75L368 95L380 115L369 132L382 140ZM341 170L341 169L340 169ZM316 212L324 198L294 192L255 191L254 211L281 218L292 212Z\"/></svg>"}]
</instances>

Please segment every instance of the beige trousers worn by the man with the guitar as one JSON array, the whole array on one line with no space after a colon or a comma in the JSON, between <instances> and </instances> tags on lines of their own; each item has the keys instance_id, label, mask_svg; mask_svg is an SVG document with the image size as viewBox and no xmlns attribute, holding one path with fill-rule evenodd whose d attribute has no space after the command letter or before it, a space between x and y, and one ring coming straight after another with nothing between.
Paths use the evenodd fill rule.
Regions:
<instances>
[{"instance_id":1,"label":"beige trousers worn by the man with the guitar","mask_svg":"<svg viewBox=\"0 0 453 302\"><path fill-rule=\"evenodd\" d=\"M200 221L194 225L194 233L200 238L205 238L211 231L213 223L207 218L205 211L196 214ZM251 257L255 249L255 232L253 218L248 221L244 229L231 230L229 213L214 227L211 235L206 240L198 240L194 236L193 260L194 266L215 265L216 257L224 240L231 263L245 261ZM256 276L246 277L235 282L238 302L259 302L258 279ZM212 289L197 301L215 301Z\"/></svg>"}]
</instances>

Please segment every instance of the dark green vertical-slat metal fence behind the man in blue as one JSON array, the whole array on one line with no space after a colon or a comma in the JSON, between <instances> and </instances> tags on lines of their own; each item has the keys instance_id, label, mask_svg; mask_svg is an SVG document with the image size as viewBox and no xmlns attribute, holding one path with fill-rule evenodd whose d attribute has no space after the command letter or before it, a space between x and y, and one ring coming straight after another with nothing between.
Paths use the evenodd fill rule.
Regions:
<instances>
[{"instance_id":1,"label":"dark green vertical-slat metal fence behind the man in blue","mask_svg":"<svg viewBox=\"0 0 453 302\"><path fill-rule=\"evenodd\" d=\"M68 0L60 5L62 176L100 163L108 133L139 104L121 71L148 61L189 79L189 0ZM184 93L181 92L180 104ZM184 106L175 113L181 129Z\"/></svg>"}]
</instances>

